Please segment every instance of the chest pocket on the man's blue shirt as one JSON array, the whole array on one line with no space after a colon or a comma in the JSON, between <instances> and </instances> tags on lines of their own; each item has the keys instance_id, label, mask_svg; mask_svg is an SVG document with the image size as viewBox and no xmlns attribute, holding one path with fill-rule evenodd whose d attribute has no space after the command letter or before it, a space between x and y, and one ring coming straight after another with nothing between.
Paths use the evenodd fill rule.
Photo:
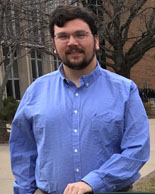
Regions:
<instances>
[{"instance_id":1,"label":"chest pocket on the man's blue shirt","mask_svg":"<svg viewBox=\"0 0 155 194\"><path fill-rule=\"evenodd\" d=\"M91 130L96 143L109 148L119 147L123 136L123 120L116 112L96 113L92 118Z\"/></svg>"}]
</instances>

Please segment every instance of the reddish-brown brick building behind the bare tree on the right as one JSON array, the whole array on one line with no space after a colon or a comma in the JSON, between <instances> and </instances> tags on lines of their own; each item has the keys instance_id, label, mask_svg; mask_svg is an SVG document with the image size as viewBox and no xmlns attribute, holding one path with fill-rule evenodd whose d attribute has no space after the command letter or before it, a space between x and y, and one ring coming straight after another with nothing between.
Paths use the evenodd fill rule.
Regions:
<instances>
[{"instance_id":1,"label":"reddish-brown brick building behind the bare tree on the right","mask_svg":"<svg viewBox=\"0 0 155 194\"><path fill-rule=\"evenodd\" d=\"M143 6L143 10L147 9L148 7L155 8L155 0L148 0ZM136 17L132 21L132 25L129 29L129 37L136 37L141 35L138 34L138 32L143 30L143 28L146 29L146 24L144 24L143 22L144 19L142 18L141 20L141 17ZM155 25L154 23L152 25ZM132 40L129 40L127 42L127 50L132 43ZM113 71L111 68L107 69ZM144 54L143 58L133 66L133 68L131 69L130 79L132 79L139 88L147 87L155 89L155 48L147 51Z\"/></svg>"}]
</instances>

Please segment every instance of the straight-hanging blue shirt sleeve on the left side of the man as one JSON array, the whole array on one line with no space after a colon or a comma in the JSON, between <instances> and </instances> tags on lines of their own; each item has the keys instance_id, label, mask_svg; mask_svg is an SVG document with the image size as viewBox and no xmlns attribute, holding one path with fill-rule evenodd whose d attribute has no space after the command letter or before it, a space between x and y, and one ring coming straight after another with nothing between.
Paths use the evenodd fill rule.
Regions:
<instances>
[{"instance_id":1,"label":"straight-hanging blue shirt sleeve on the left side of the man","mask_svg":"<svg viewBox=\"0 0 155 194\"><path fill-rule=\"evenodd\" d=\"M36 190L37 149L31 120L26 113L29 95L21 100L12 122L10 135L11 167L15 177L14 194L33 194Z\"/></svg>"}]
</instances>

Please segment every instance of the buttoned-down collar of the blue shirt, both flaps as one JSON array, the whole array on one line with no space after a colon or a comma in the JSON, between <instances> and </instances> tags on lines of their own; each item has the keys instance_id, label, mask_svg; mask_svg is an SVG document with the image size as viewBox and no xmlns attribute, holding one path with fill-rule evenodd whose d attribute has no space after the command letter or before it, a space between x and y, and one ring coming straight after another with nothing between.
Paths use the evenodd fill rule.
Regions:
<instances>
[{"instance_id":1,"label":"buttoned-down collar of the blue shirt, both flaps","mask_svg":"<svg viewBox=\"0 0 155 194\"><path fill-rule=\"evenodd\" d=\"M63 65L60 64L59 69L58 69L59 73L60 73L60 77L66 81L67 83L69 83L70 81L67 80L64 76L64 72L63 72ZM99 75L101 74L101 66L99 64L99 62L97 62L97 66L96 68L88 75L84 75L82 76L79 81L81 85L85 85L86 87L88 87L92 82L94 82Z\"/></svg>"}]
</instances>

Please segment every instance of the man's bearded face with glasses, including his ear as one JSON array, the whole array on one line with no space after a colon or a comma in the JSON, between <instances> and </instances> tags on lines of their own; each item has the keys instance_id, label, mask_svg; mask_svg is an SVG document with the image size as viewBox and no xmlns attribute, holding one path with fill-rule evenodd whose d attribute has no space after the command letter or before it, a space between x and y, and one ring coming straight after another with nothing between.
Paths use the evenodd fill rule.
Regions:
<instances>
[{"instance_id":1,"label":"man's bearded face with glasses, including his ear","mask_svg":"<svg viewBox=\"0 0 155 194\"><path fill-rule=\"evenodd\" d=\"M56 52L64 65L81 70L87 67L98 47L98 37L93 36L87 23L74 19L63 27L54 26Z\"/></svg>"}]
</instances>

